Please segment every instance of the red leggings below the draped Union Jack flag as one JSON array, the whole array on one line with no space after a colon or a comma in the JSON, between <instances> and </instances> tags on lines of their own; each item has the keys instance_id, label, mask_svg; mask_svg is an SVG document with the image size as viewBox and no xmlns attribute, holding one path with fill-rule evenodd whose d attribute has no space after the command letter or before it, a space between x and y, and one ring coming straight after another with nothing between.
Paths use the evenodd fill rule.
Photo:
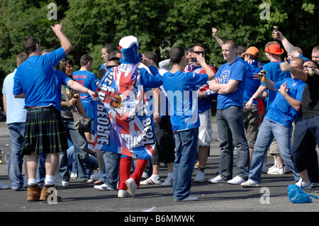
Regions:
<instances>
[{"instance_id":1,"label":"red leggings below the draped Union Jack flag","mask_svg":"<svg viewBox=\"0 0 319 226\"><path fill-rule=\"evenodd\" d=\"M130 165L132 164L131 157L122 157L120 160L120 182L118 183L118 190L127 190L125 181L133 178L136 185L140 186L140 179L149 159L138 159L133 174L130 175Z\"/></svg>"}]
</instances>

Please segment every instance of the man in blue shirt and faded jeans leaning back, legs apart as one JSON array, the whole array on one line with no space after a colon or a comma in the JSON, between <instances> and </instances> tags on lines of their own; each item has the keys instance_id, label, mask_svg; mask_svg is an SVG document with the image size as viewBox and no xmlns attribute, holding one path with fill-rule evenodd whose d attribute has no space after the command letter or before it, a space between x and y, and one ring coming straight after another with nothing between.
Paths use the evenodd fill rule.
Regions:
<instances>
[{"instance_id":1,"label":"man in blue shirt and faded jeans leaning back, legs apart","mask_svg":"<svg viewBox=\"0 0 319 226\"><path fill-rule=\"evenodd\" d=\"M300 57L293 58L291 67L302 69L303 59ZM291 161L291 124L295 120L297 112L301 110L301 98L306 83L295 79L291 73L291 78L277 82L266 79L265 84L268 89L279 91L279 93L274 98L272 106L269 107L259 128L254 153L252 154L249 179L241 184L244 188L260 186L264 155L274 138L277 141L281 157L293 172L294 179L299 180L299 175L294 170Z\"/></svg>"}]
</instances>

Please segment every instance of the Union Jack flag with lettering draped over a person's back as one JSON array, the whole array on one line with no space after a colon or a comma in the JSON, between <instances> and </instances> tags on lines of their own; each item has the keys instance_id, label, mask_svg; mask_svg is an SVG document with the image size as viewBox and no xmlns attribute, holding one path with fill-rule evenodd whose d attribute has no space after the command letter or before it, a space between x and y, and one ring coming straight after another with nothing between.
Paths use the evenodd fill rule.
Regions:
<instances>
[{"instance_id":1,"label":"Union Jack flag with lettering draped over a person's back","mask_svg":"<svg viewBox=\"0 0 319 226\"><path fill-rule=\"evenodd\" d=\"M108 69L95 92L94 149L152 159L155 128L135 64Z\"/></svg>"}]
</instances>

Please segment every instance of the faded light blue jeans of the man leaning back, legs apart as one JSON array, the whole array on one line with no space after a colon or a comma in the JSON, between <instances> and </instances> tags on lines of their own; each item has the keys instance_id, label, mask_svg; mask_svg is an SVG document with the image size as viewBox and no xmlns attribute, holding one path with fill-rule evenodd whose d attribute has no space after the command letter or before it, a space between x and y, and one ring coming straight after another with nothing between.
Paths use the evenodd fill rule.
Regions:
<instances>
[{"instance_id":1,"label":"faded light blue jeans of the man leaning back, legs apart","mask_svg":"<svg viewBox=\"0 0 319 226\"><path fill-rule=\"evenodd\" d=\"M256 144L254 145L254 152L252 153L252 166L250 167L249 179L257 183L262 182L260 176L262 174L264 156L274 138L277 141L281 158L284 159L286 166L293 172L295 181L298 181L300 177L294 169L290 154L291 128L269 120L268 118L264 118L259 128Z\"/></svg>"}]
</instances>

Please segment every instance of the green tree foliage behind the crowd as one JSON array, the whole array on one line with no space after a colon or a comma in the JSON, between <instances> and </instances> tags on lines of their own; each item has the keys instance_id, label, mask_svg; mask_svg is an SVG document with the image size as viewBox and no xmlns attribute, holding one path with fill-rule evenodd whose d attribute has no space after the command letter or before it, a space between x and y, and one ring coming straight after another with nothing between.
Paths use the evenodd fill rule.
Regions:
<instances>
[{"instance_id":1,"label":"green tree foliage behind the crowd","mask_svg":"<svg viewBox=\"0 0 319 226\"><path fill-rule=\"evenodd\" d=\"M57 20L49 20L48 4L57 5ZM1 0L0 78L16 68L16 55L23 51L22 41L35 35L41 47L60 46L50 26L62 23L63 32L73 45L69 57L75 69L84 54L94 57L92 72L103 63L101 46L115 43L125 35L135 35L140 52L157 52L159 60L168 57L170 47L203 43L209 64L219 67L223 57L211 28L220 38L233 38L239 45L256 46L263 53L272 40L272 26L310 57L318 45L317 0ZM263 19L269 6L269 18ZM266 62L262 54L261 60Z\"/></svg>"}]
</instances>

